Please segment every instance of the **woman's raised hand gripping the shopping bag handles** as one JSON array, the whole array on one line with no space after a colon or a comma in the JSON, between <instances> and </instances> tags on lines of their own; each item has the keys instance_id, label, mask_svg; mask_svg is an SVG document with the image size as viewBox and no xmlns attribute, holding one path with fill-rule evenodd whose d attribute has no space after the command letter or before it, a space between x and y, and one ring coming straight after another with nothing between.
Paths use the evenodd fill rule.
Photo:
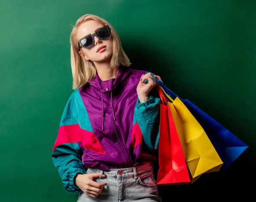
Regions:
<instances>
[{"instance_id":1,"label":"woman's raised hand gripping the shopping bag handles","mask_svg":"<svg viewBox=\"0 0 256 202\"><path fill-rule=\"evenodd\" d=\"M157 78L158 80L160 80L161 82L163 82L162 79L160 78L160 76L154 75L154 77ZM148 80L147 84L144 84L145 80ZM152 88L154 88L154 86L156 84L157 83L154 80L151 72L148 72L147 74L143 74L140 77L140 82L137 86L137 94L138 94L138 97L139 97L139 100L141 103L148 100L148 93L151 91Z\"/></svg>"}]
</instances>

